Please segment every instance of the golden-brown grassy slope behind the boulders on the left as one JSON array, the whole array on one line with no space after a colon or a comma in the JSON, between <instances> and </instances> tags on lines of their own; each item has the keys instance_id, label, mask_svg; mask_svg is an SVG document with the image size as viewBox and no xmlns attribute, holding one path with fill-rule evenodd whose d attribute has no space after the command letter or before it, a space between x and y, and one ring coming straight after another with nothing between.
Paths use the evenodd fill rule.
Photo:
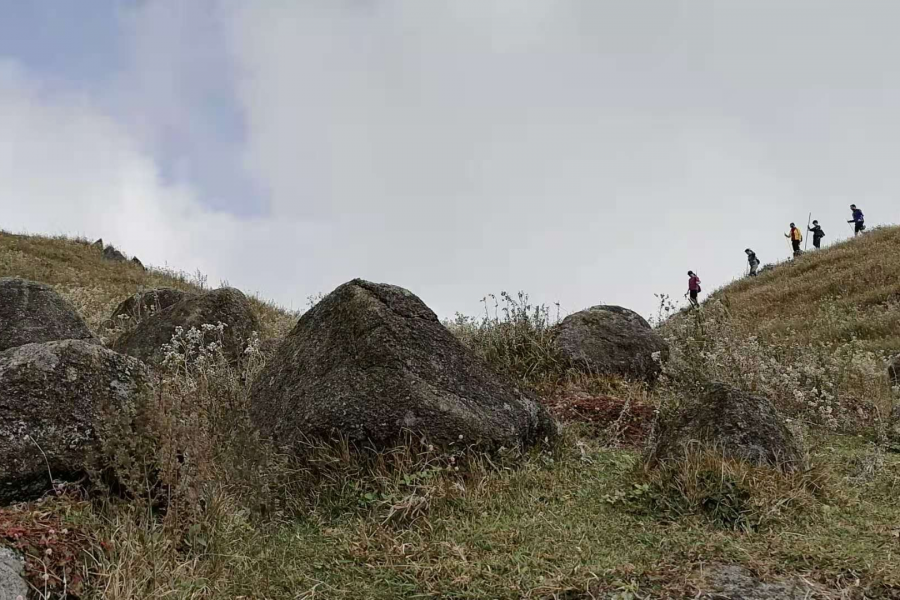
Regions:
<instances>
[{"instance_id":1,"label":"golden-brown grassy slope behind the boulders on the left","mask_svg":"<svg viewBox=\"0 0 900 600\"><path fill-rule=\"evenodd\" d=\"M53 286L98 333L116 306L139 290L171 287L196 292L208 287L201 274L143 270L130 262L104 260L87 240L3 231L0 277L21 277ZM262 338L283 336L293 327L295 315L259 298L250 301L263 327L259 332Z\"/></svg>"}]
</instances>

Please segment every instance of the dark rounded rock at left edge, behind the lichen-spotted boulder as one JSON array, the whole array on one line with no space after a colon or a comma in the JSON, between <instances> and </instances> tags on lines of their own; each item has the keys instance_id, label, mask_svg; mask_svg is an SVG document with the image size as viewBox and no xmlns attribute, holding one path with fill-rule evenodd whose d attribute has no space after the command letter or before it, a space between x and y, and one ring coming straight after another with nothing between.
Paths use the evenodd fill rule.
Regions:
<instances>
[{"instance_id":1,"label":"dark rounded rock at left edge, behind the lichen-spotted boulder","mask_svg":"<svg viewBox=\"0 0 900 600\"><path fill-rule=\"evenodd\" d=\"M69 339L99 343L75 308L50 286L0 278L0 351Z\"/></svg>"}]
</instances>

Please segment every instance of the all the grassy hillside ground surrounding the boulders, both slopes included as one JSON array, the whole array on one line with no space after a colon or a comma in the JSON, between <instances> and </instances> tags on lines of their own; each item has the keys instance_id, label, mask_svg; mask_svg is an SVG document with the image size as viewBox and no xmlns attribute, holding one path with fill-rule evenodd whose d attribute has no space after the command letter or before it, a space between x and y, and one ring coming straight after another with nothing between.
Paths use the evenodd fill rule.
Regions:
<instances>
[{"instance_id":1,"label":"all the grassy hillside ground surrounding the boulders, both slopes included","mask_svg":"<svg viewBox=\"0 0 900 600\"><path fill-rule=\"evenodd\" d=\"M655 387L561 370L550 311L525 296L460 318L455 333L496 371L548 404L582 403L559 441L522 454L410 441L311 444L291 460L247 417L258 362L181 363L159 372L147 430L124 444L141 467L125 489L65 486L0 508L0 545L26 555L34 598L736 600L760 582L768 595L755 597L900 597L900 456L883 427L898 245L900 230L877 230L673 315ZM51 284L95 331L139 289L205 287L83 241L0 233L6 276ZM253 309L265 337L296 320L261 299ZM783 473L712 448L647 468L654 412L712 381L769 397L809 464ZM601 406L618 412L585 415ZM646 429L623 435L632 419Z\"/></svg>"}]
</instances>

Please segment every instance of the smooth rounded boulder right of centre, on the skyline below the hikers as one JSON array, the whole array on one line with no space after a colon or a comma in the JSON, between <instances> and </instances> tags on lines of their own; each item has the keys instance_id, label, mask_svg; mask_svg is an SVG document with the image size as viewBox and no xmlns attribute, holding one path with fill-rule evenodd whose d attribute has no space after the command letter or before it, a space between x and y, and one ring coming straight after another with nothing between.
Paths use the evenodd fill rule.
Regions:
<instances>
[{"instance_id":1,"label":"smooth rounded boulder right of centre, on the skyline below the hikers","mask_svg":"<svg viewBox=\"0 0 900 600\"><path fill-rule=\"evenodd\" d=\"M639 314L620 306L594 306L569 315L554 340L569 363L587 373L655 381L669 356L666 341Z\"/></svg>"}]
</instances>

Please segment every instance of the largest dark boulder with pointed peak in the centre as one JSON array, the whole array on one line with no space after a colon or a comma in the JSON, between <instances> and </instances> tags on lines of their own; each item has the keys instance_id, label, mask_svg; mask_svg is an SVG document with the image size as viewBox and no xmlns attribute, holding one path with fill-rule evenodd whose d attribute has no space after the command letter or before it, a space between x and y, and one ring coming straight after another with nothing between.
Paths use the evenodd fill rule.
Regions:
<instances>
[{"instance_id":1,"label":"largest dark boulder with pointed peak in the centre","mask_svg":"<svg viewBox=\"0 0 900 600\"><path fill-rule=\"evenodd\" d=\"M356 279L300 319L256 379L251 416L276 442L341 434L385 446L528 446L556 425L407 290Z\"/></svg>"}]
</instances>

